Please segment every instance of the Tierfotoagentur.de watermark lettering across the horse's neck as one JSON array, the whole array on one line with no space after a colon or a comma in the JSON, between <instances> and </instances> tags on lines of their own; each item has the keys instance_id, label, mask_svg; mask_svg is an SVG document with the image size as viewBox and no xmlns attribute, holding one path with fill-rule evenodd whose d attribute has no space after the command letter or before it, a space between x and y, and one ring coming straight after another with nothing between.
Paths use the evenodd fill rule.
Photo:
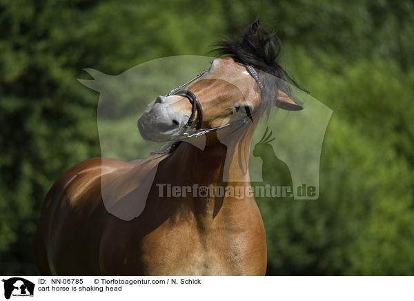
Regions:
<instances>
[{"instance_id":1,"label":"Tierfotoagentur.de watermark lettering across the horse's neck","mask_svg":"<svg viewBox=\"0 0 414 301\"><path fill-rule=\"evenodd\" d=\"M293 186L272 186L270 184L258 186L177 186L170 183L157 183L159 197L235 197L238 200L244 197L293 197ZM315 186L296 186L297 195L314 197L317 193Z\"/></svg>"}]
</instances>

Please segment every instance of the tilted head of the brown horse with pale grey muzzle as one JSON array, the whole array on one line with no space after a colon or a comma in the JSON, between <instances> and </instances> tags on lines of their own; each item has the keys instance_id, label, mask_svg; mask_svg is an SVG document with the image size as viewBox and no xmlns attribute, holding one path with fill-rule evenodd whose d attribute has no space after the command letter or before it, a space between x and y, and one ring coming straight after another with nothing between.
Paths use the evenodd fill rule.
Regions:
<instances>
[{"instance_id":1,"label":"tilted head of the brown horse with pale grey muzzle","mask_svg":"<svg viewBox=\"0 0 414 301\"><path fill-rule=\"evenodd\" d=\"M164 142L181 137L188 128L219 128L244 117L253 123L252 115L261 116L264 111L261 109L268 106L302 110L302 106L293 101L283 85L268 80L269 77L284 79L281 66L274 62L271 63L273 68L268 68L268 62L249 61L243 57L242 51L250 44L263 48L268 43L265 38L268 35L256 22L244 36L243 43L246 45L237 48L239 53L235 53L228 43L219 43L223 46L219 52L230 53L230 56L215 59L208 70L191 82L187 90L156 97L138 119L142 137ZM266 70L260 69L262 65L267 66L262 68ZM266 99L272 100L264 101L265 95ZM195 101L197 110L193 104Z\"/></svg>"}]
</instances>

